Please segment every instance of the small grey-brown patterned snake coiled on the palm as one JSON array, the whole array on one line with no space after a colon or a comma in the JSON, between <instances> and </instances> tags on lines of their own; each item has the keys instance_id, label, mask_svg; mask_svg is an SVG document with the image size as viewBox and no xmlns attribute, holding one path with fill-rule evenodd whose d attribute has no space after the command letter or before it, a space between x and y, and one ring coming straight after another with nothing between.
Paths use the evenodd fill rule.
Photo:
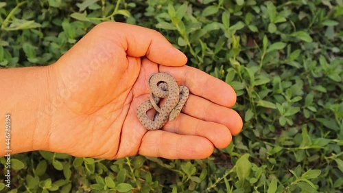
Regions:
<instances>
[{"instance_id":1,"label":"small grey-brown patterned snake coiled on the palm","mask_svg":"<svg viewBox=\"0 0 343 193\"><path fill-rule=\"evenodd\" d=\"M148 80L150 100L143 102L138 107L137 116L141 124L148 130L162 128L167 120L175 120L189 97L189 89L178 86L176 80L169 73L155 73ZM163 106L158 103L162 98L167 98ZM147 111L154 108L157 112L154 120L147 117Z\"/></svg>"}]
</instances>

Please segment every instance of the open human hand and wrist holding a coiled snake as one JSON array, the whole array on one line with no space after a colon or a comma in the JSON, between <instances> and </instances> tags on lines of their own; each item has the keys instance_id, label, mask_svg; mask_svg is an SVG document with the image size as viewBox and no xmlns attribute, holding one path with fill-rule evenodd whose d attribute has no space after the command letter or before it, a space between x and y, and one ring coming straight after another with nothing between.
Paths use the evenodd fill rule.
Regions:
<instances>
[{"instance_id":1,"label":"open human hand and wrist holding a coiled snake","mask_svg":"<svg viewBox=\"0 0 343 193\"><path fill-rule=\"evenodd\" d=\"M48 150L102 159L209 157L242 128L241 117L230 109L236 94L186 63L186 56L160 33L105 22L53 65L1 69L0 126L10 113L12 155ZM137 119L137 108L149 99L147 78L158 71L170 73L191 95L176 120L161 130L147 130ZM1 142L0 155L5 154Z\"/></svg>"}]
</instances>

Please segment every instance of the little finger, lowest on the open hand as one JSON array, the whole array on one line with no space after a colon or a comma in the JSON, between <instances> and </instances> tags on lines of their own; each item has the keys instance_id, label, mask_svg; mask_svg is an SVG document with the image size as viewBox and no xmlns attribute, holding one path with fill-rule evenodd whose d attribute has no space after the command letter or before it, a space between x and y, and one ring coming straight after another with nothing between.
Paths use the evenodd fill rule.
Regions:
<instances>
[{"instance_id":1,"label":"little finger, lowest on the open hand","mask_svg":"<svg viewBox=\"0 0 343 193\"><path fill-rule=\"evenodd\" d=\"M213 144L209 139L163 130L148 131L139 148L140 155L166 159L204 159L212 152Z\"/></svg>"}]
</instances>

